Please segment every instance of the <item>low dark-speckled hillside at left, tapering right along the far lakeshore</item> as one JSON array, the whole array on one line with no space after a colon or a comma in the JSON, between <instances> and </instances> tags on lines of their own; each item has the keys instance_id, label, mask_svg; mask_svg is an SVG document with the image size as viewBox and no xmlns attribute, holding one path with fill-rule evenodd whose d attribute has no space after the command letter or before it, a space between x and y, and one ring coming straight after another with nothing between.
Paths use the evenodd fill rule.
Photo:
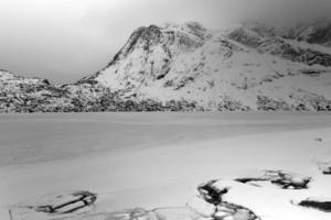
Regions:
<instances>
[{"instance_id":1,"label":"low dark-speckled hillside at left, tapering right along the far lakeshore","mask_svg":"<svg viewBox=\"0 0 331 220\"><path fill-rule=\"evenodd\" d=\"M46 79L24 78L0 70L0 112L85 112L193 110L185 101L162 103L130 100L102 85L51 85Z\"/></svg>"}]
</instances>

